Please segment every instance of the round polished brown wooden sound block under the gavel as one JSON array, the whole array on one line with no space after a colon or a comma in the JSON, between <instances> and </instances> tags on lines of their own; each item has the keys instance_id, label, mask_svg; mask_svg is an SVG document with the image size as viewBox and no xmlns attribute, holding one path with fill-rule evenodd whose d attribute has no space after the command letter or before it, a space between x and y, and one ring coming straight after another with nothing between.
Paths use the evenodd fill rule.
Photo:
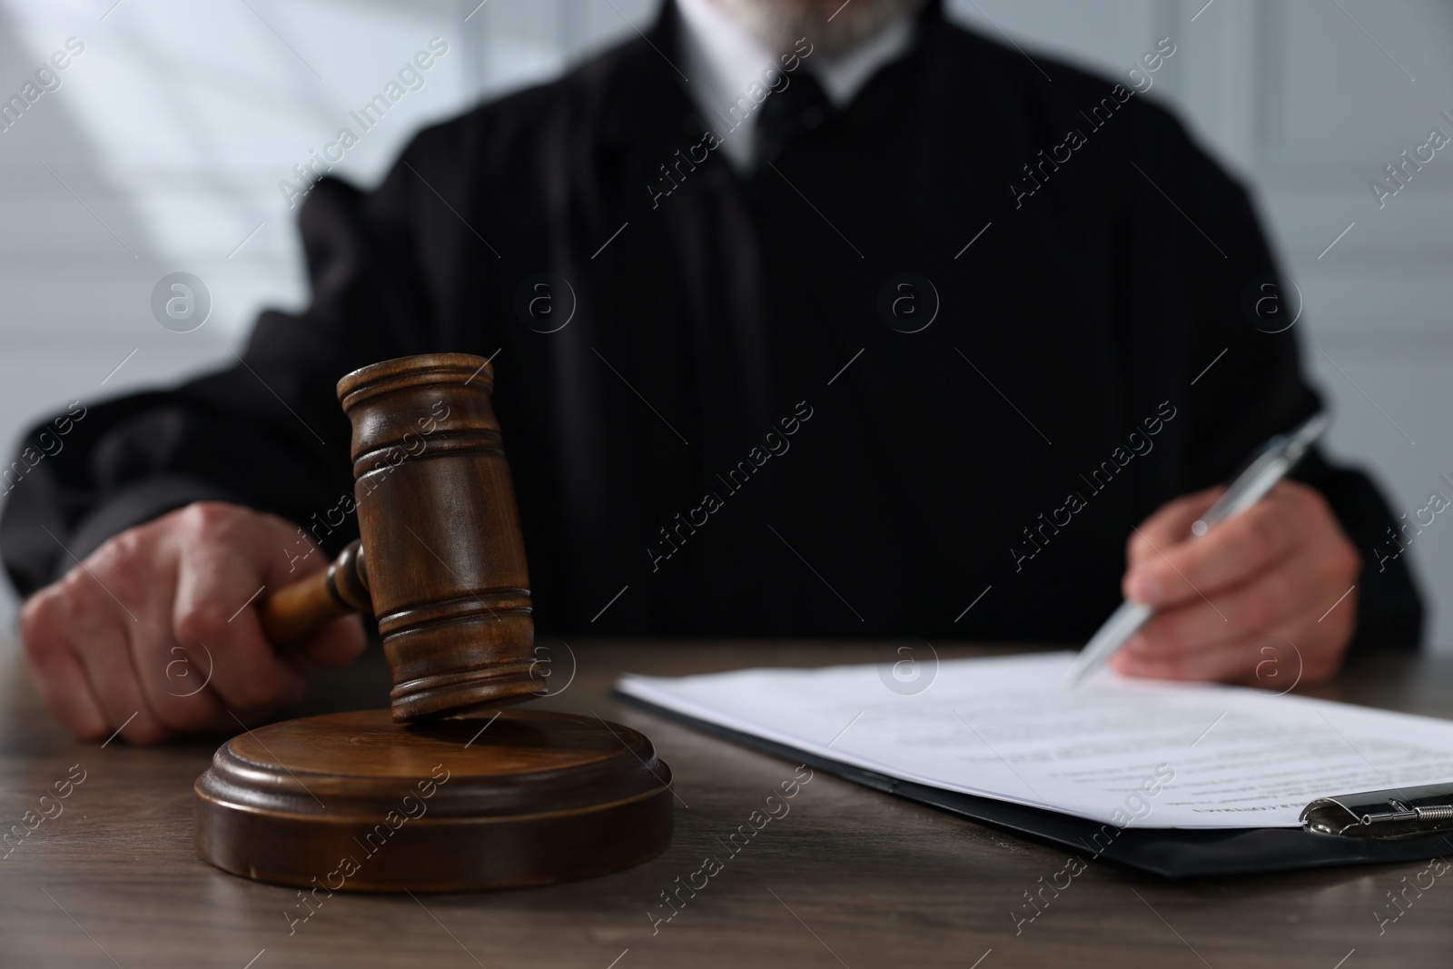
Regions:
<instances>
[{"instance_id":1,"label":"round polished brown wooden sound block under the gavel","mask_svg":"<svg viewBox=\"0 0 1453 969\"><path fill-rule=\"evenodd\" d=\"M328 892L551 885L664 850L670 782L649 739L597 718L309 716L216 751L195 786L196 853Z\"/></svg>"}]
</instances>

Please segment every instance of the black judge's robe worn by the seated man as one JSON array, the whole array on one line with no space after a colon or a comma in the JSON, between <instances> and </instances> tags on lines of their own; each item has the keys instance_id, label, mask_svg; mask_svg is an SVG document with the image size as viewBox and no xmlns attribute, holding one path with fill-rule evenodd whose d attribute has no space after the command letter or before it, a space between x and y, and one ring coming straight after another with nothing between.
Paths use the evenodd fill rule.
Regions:
<instances>
[{"instance_id":1,"label":"black judge's robe worn by the seated man","mask_svg":"<svg viewBox=\"0 0 1453 969\"><path fill-rule=\"evenodd\" d=\"M673 10L421 132L373 192L318 182L311 308L264 312L246 368L92 405L9 497L17 588L71 564L46 529L84 556L195 498L340 548L334 382L453 350L494 356L542 632L1080 642L1132 524L1319 407L1298 327L1252 325L1276 291L1247 193L1144 94L930 4L907 58L738 176ZM1299 477L1363 555L1357 642L1415 644L1386 504L1319 456Z\"/></svg>"}]
</instances>

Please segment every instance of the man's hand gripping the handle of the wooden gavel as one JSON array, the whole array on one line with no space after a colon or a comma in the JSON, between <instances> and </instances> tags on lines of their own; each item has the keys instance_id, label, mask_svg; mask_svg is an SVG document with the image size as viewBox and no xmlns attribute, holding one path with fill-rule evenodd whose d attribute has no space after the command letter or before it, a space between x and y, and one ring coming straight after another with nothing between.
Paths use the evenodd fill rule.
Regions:
<instances>
[{"instance_id":1,"label":"man's hand gripping the handle of the wooden gavel","mask_svg":"<svg viewBox=\"0 0 1453 969\"><path fill-rule=\"evenodd\" d=\"M237 732L238 721L299 700L309 664L341 665L363 649L356 616L286 652L263 639L254 593L328 565L317 549L296 558L304 551L295 526L221 503L122 532L25 603L31 677L83 739Z\"/></svg>"}]
</instances>

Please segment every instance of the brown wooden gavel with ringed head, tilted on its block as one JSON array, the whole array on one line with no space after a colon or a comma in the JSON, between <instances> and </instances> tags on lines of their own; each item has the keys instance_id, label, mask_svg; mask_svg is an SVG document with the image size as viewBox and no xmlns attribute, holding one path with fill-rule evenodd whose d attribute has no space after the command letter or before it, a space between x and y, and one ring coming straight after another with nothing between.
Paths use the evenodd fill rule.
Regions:
<instances>
[{"instance_id":1,"label":"brown wooden gavel with ringed head, tilted on its block","mask_svg":"<svg viewBox=\"0 0 1453 969\"><path fill-rule=\"evenodd\" d=\"M488 362L466 353L385 360L339 381L360 539L259 606L276 645L371 612L400 722L517 703L543 686L493 388Z\"/></svg>"}]
</instances>

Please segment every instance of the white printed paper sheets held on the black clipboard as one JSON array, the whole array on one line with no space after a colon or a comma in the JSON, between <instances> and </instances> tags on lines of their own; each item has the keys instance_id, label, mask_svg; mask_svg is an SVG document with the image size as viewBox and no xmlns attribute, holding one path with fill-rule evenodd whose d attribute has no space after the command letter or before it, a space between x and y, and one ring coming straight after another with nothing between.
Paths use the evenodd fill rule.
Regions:
<instances>
[{"instance_id":1,"label":"white printed paper sheets held on the black clipboard","mask_svg":"<svg viewBox=\"0 0 1453 969\"><path fill-rule=\"evenodd\" d=\"M946 660L920 693L878 665L626 676L620 692L899 780L1119 827L1300 827L1314 798L1453 782L1453 722L1103 671L1074 654Z\"/></svg>"}]
</instances>

